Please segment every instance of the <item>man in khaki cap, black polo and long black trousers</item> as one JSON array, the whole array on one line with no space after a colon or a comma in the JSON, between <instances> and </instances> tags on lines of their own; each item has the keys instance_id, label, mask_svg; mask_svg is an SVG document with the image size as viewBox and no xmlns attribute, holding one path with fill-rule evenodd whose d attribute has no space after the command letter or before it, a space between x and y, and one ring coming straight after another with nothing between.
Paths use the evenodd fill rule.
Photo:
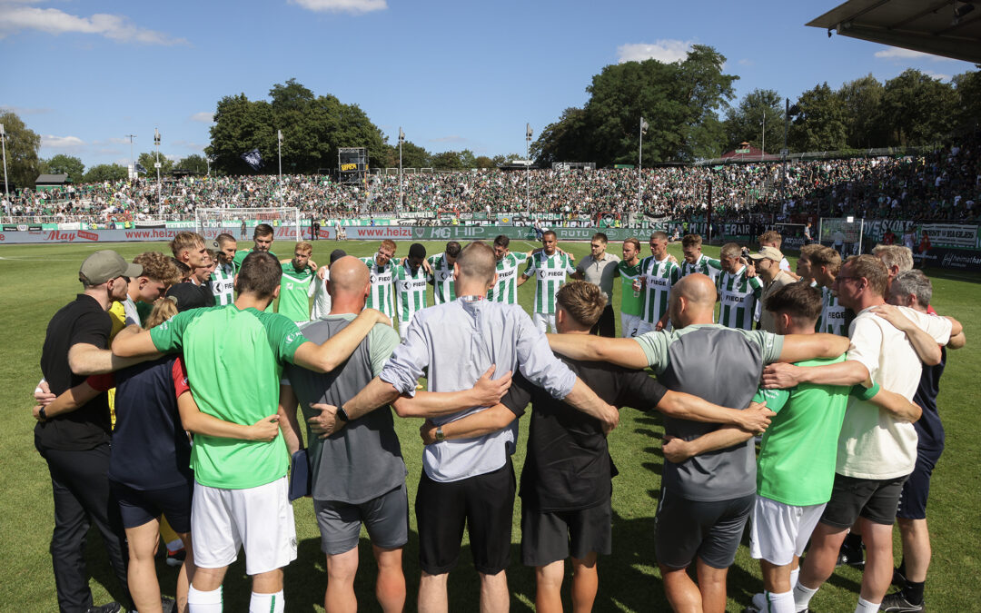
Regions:
<instances>
[{"instance_id":1,"label":"man in khaki cap, black polo and long black trousers","mask_svg":"<svg viewBox=\"0 0 981 613\"><path fill-rule=\"evenodd\" d=\"M106 373L132 363L112 358L106 350L112 321L106 311L126 298L127 278L143 269L128 264L115 251L96 251L78 270L82 293L48 323L41 349L41 373L51 392L60 395L84 382L85 376ZM109 563L127 593L127 554L119 507L112 498L109 470L109 403L106 394L95 396L76 411L50 419L38 410L34 447L48 463L54 494L55 529L51 536L58 605L71 613L114 613L118 603L92 606L85 569L85 536L94 522L102 536ZM129 608L129 607L127 607Z\"/></svg>"}]
</instances>

